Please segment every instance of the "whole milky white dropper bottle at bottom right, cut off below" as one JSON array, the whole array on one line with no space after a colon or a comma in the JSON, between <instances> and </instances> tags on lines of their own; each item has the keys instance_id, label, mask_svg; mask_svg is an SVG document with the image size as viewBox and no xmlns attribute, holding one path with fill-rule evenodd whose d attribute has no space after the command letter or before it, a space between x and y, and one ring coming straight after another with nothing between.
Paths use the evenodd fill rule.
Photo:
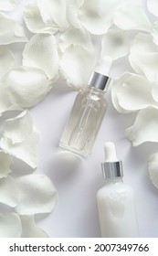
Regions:
<instances>
[{"instance_id":1,"label":"whole milky white dropper bottle at bottom right, cut off below","mask_svg":"<svg viewBox=\"0 0 158 256\"><path fill-rule=\"evenodd\" d=\"M111 142L105 144L105 162L101 166L105 180L97 193L101 237L139 237L133 190L123 183L122 164Z\"/></svg>"}]
</instances>

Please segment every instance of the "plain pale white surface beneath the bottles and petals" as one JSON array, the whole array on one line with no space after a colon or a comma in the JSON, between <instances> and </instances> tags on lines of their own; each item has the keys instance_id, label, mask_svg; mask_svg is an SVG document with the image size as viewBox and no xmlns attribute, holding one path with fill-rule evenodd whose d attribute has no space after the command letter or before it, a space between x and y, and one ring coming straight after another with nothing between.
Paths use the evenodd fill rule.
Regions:
<instances>
[{"instance_id":1,"label":"plain pale white surface beneath the bottles and petals","mask_svg":"<svg viewBox=\"0 0 158 256\"><path fill-rule=\"evenodd\" d=\"M28 2L31 1L20 1L11 16L22 18L23 6ZM96 41L99 40L100 37ZM24 44L13 44L9 48L14 50L16 61L20 63ZM116 77L123 70L130 70L126 59L114 63L111 75ZM112 141L123 162L124 182L131 185L135 192L140 236L157 237L158 190L153 187L147 170L147 159L158 151L157 145L142 144L134 148L127 141L124 131L132 125L135 115L116 112L111 103L110 88L107 93L109 108L90 157L81 159L62 151L58 148L58 142L76 95L77 92L68 88L65 81L58 80L45 101L31 109L41 133L39 165L35 173L49 176L58 189L56 208L47 216L37 217L37 225L49 237L100 237L96 194L103 186L100 168L100 163L104 161L103 145ZM3 119L6 117L7 114ZM16 163L15 176L29 173L26 165Z\"/></svg>"}]
</instances>

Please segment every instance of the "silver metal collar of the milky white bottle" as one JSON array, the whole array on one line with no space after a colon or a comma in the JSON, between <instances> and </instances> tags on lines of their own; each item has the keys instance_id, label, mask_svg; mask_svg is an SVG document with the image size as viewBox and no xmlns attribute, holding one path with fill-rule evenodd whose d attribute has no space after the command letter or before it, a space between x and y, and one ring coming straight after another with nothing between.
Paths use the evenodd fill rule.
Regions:
<instances>
[{"instance_id":1,"label":"silver metal collar of the milky white bottle","mask_svg":"<svg viewBox=\"0 0 158 256\"><path fill-rule=\"evenodd\" d=\"M118 162L104 162L101 164L103 179L118 178L123 176L122 163Z\"/></svg>"}]
</instances>

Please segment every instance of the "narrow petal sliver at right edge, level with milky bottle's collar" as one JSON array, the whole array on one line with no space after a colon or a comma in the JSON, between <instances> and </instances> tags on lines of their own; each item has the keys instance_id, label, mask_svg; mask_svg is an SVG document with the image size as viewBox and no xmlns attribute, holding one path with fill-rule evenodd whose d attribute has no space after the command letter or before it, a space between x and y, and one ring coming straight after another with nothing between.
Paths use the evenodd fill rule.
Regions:
<instances>
[{"instance_id":1,"label":"narrow petal sliver at right edge, level with milky bottle's collar","mask_svg":"<svg viewBox=\"0 0 158 256\"><path fill-rule=\"evenodd\" d=\"M158 188L158 153L149 156L148 170L153 185Z\"/></svg>"}]
</instances>

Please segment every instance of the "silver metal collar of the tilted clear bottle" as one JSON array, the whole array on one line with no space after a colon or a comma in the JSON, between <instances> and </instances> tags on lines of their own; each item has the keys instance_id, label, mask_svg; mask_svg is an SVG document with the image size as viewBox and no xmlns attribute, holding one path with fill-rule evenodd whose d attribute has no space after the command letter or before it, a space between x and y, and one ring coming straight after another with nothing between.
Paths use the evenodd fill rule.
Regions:
<instances>
[{"instance_id":1,"label":"silver metal collar of the tilted clear bottle","mask_svg":"<svg viewBox=\"0 0 158 256\"><path fill-rule=\"evenodd\" d=\"M98 72L93 72L90 76L89 85L96 89L107 91L110 82L111 82L110 77L106 75L102 75Z\"/></svg>"}]
</instances>

